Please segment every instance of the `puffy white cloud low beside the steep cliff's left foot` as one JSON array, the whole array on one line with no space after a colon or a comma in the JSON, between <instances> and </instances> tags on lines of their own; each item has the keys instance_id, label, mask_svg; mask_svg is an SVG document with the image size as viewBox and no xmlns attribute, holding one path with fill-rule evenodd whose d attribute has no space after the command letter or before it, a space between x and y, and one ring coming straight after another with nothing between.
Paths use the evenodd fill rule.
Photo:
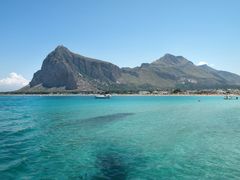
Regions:
<instances>
[{"instance_id":1,"label":"puffy white cloud low beside the steep cliff's left foot","mask_svg":"<svg viewBox=\"0 0 240 180\"><path fill-rule=\"evenodd\" d=\"M28 83L22 75L12 72L6 78L0 79L0 91L14 91Z\"/></svg>"}]
</instances>

